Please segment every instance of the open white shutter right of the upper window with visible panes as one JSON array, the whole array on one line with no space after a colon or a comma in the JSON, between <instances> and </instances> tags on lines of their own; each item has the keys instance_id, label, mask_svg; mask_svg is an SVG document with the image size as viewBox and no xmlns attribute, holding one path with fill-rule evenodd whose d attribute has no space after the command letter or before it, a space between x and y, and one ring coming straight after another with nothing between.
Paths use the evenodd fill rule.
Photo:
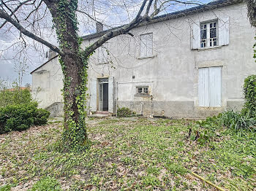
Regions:
<instances>
[{"instance_id":1,"label":"open white shutter right of the upper window with visible panes","mask_svg":"<svg viewBox=\"0 0 256 191\"><path fill-rule=\"evenodd\" d=\"M230 18L223 17L219 19L219 45L230 43Z\"/></svg>"}]
</instances>

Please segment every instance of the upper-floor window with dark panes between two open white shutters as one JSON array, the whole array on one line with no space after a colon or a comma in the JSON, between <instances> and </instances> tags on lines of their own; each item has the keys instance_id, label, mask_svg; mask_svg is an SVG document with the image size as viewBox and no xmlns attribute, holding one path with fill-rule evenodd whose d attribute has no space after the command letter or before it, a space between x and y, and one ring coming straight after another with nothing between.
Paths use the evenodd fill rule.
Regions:
<instances>
[{"instance_id":1,"label":"upper-floor window with dark panes between two open white shutters","mask_svg":"<svg viewBox=\"0 0 256 191\"><path fill-rule=\"evenodd\" d=\"M200 47L214 47L218 45L217 21L200 25Z\"/></svg>"}]
</instances>

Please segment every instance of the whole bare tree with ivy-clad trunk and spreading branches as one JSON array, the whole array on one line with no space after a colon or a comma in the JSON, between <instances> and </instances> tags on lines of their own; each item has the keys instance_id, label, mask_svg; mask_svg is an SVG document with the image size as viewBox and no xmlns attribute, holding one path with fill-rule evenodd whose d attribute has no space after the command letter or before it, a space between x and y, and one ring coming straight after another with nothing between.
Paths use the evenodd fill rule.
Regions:
<instances>
[{"instance_id":1,"label":"whole bare tree with ivy-clad trunk and spreading branches","mask_svg":"<svg viewBox=\"0 0 256 191\"><path fill-rule=\"evenodd\" d=\"M62 135L62 145L67 149L87 146L88 144L85 124L86 70L89 56L94 50L115 36L121 34L132 35L129 33L132 28L154 20L154 17L170 4L197 4L192 1L178 0L128 1L129 4L135 4L135 7L139 7L136 14L129 15L129 17L133 16L133 19L124 26L110 29L96 42L82 50L80 48L82 39L78 36L77 12L87 15L91 20L97 20L95 11L91 14L88 10L78 8L78 0L1 0L0 2L0 18L3 19L0 28L4 28L4 25L10 23L11 27L18 29L21 39L23 39L23 36L29 36L34 41L59 53L64 74L64 133ZM95 2L92 1L89 9L94 9ZM33 17L32 15L36 15L39 9L42 9L40 14ZM122 9L127 9L129 13L127 4L124 4ZM44 10L50 12L59 46L43 39L35 30L35 28L40 27L37 23L44 18ZM97 13L100 14L100 12ZM24 43L26 43L26 40L24 40Z\"/></svg>"}]
</instances>

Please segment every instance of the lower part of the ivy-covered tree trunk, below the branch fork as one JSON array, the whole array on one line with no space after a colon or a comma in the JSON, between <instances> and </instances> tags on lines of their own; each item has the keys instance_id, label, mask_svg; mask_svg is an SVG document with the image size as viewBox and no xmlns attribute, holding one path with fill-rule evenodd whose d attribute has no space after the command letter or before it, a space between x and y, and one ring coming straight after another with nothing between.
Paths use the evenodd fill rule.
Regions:
<instances>
[{"instance_id":1,"label":"lower part of the ivy-covered tree trunk, below the branch fork","mask_svg":"<svg viewBox=\"0 0 256 191\"><path fill-rule=\"evenodd\" d=\"M63 146L67 149L87 147L86 133L86 64L83 60L64 56L64 132L62 135Z\"/></svg>"}]
</instances>

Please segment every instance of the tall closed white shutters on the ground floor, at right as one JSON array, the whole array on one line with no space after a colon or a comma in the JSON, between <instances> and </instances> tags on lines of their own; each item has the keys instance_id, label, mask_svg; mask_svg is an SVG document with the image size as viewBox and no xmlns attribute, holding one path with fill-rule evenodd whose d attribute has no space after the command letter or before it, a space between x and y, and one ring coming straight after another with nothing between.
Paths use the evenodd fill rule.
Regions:
<instances>
[{"instance_id":1,"label":"tall closed white shutters on the ground floor, at right","mask_svg":"<svg viewBox=\"0 0 256 191\"><path fill-rule=\"evenodd\" d=\"M198 69L199 106L222 106L222 67Z\"/></svg>"}]
</instances>

